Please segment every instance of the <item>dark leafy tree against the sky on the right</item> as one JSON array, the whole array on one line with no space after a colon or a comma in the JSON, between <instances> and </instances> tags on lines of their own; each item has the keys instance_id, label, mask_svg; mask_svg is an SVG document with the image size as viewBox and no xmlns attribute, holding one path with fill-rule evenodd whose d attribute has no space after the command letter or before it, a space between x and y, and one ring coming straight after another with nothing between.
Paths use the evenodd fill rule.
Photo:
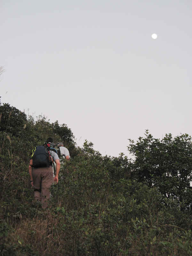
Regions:
<instances>
[{"instance_id":1,"label":"dark leafy tree against the sky on the right","mask_svg":"<svg viewBox=\"0 0 192 256\"><path fill-rule=\"evenodd\" d=\"M149 187L156 186L160 193L178 199L181 210L191 209L192 143L191 136L171 134L160 141L146 131L137 143L130 140L130 152L135 156L132 175Z\"/></svg>"}]
</instances>

